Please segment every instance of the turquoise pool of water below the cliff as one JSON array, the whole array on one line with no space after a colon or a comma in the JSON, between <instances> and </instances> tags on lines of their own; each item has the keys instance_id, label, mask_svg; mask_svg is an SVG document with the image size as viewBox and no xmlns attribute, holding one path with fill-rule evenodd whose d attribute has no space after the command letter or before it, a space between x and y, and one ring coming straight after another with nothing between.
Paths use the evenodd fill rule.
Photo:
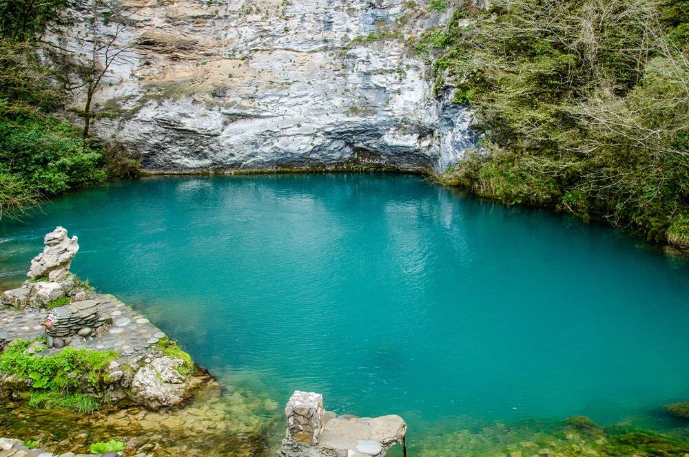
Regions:
<instances>
[{"instance_id":1,"label":"turquoise pool of water below the cliff","mask_svg":"<svg viewBox=\"0 0 689 457\"><path fill-rule=\"evenodd\" d=\"M200 365L410 425L652 417L689 401L689 263L568 215L378 174L146 178L0 224L0 282L45 233Z\"/></svg>"}]
</instances>

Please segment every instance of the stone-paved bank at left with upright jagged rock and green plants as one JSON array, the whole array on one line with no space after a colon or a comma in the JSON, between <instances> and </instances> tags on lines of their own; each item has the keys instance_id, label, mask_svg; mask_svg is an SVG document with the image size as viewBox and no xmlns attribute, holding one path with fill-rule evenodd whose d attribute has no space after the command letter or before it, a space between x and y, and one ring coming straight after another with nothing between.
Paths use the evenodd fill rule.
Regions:
<instances>
[{"instance_id":1,"label":"stone-paved bank at left with upright jagged rock and green plants","mask_svg":"<svg viewBox=\"0 0 689 457\"><path fill-rule=\"evenodd\" d=\"M59 391L101 405L128 401L156 409L184 403L209 382L148 319L70 273L76 237L57 227L44 242L30 279L1 297L1 396L29 394L40 403L36 398Z\"/></svg>"}]
</instances>

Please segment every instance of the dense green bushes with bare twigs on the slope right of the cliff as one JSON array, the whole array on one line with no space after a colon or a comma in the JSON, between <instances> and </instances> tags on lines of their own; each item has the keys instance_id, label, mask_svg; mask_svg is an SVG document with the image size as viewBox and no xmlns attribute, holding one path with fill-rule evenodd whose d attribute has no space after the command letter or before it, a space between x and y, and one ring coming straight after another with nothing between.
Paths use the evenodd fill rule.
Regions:
<instances>
[{"instance_id":1,"label":"dense green bushes with bare twigs on the slope right of the cliff","mask_svg":"<svg viewBox=\"0 0 689 457\"><path fill-rule=\"evenodd\" d=\"M446 178L689 245L689 3L496 0L412 43L477 113Z\"/></svg>"}]
</instances>

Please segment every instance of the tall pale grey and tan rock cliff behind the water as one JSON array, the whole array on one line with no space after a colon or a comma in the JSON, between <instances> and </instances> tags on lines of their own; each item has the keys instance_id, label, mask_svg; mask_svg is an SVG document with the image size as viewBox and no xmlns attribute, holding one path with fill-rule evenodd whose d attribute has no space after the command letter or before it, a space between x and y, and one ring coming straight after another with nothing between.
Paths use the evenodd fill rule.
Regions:
<instances>
[{"instance_id":1,"label":"tall pale grey and tan rock cliff behind the water","mask_svg":"<svg viewBox=\"0 0 689 457\"><path fill-rule=\"evenodd\" d=\"M81 63L92 54L86 3L45 37ZM94 96L103 116L92 133L116 138L148 169L442 171L475 143L471 113L451 94L435 98L429 67L408 44L449 21L429 0L104 5L96 36L114 40L116 58Z\"/></svg>"}]
</instances>

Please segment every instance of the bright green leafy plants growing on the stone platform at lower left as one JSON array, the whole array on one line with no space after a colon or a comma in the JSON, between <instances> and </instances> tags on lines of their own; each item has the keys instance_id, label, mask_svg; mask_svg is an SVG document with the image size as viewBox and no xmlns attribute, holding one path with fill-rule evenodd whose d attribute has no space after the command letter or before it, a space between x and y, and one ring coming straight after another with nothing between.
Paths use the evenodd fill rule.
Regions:
<instances>
[{"instance_id":1,"label":"bright green leafy plants growing on the stone platform at lower left","mask_svg":"<svg viewBox=\"0 0 689 457\"><path fill-rule=\"evenodd\" d=\"M33 342L12 341L0 354L0 373L30 381L30 403L34 406L61 406L81 412L97 409L98 398L83 392L99 390L106 384L107 365L116 359L116 352L65 348L51 357L34 357L26 351Z\"/></svg>"}]
</instances>

